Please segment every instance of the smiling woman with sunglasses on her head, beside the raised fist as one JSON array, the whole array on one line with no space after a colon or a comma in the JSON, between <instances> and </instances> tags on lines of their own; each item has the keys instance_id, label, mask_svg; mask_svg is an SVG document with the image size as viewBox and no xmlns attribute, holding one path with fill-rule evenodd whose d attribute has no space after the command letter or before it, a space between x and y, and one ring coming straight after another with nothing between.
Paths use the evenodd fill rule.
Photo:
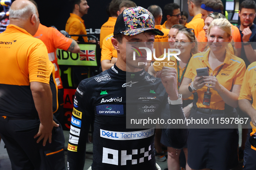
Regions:
<instances>
[{"instance_id":1,"label":"smiling woman with sunglasses on her head, beside the raised fist","mask_svg":"<svg viewBox=\"0 0 256 170\"><path fill-rule=\"evenodd\" d=\"M178 27L181 27L181 25L177 25ZM191 43L192 42L192 43ZM177 76L177 82L178 82L178 88L181 85L182 79L184 77L184 74L186 72L188 62L193 54L198 53L197 44L196 44L196 38L194 37L194 31L188 28L185 28L184 25L182 25L181 28L179 28L178 34L175 38L175 44L174 48L181 50L181 54L178 55L178 57L181 59L181 61L178 61L175 57L171 57L170 60L168 60L167 57L165 57L165 60L161 61L161 64L158 65L152 65L149 67L149 73L153 76L156 76L156 72L161 72L163 68L163 64L165 63L165 66L175 68L178 72ZM174 52L176 53L176 51ZM167 54L165 54L167 55ZM159 58L163 58L164 55L162 55ZM171 66L167 65L167 63L171 63ZM174 63L174 64L173 64ZM155 74L154 74L155 73ZM193 96L190 96L189 98L183 99L183 110L185 116L188 118L190 114L190 110L193 106ZM179 156L181 153L181 150L177 150L175 148L172 148L171 145L168 144L166 138L164 135L162 135L161 143L168 148L168 169L169 170L179 170L180 169L180 161ZM187 158L188 156L188 148L184 148L185 156ZM188 165L186 165L186 170L189 169Z\"/></svg>"}]
</instances>

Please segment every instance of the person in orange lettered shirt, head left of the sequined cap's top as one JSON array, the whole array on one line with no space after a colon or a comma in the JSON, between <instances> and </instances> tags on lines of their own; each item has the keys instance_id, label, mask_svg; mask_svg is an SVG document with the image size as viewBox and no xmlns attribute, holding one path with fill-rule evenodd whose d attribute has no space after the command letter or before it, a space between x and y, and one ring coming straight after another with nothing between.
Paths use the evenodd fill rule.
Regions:
<instances>
[{"instance_id":1,"label":"person in orange lettered shirt, head left of the sequined cap's top","mask_svg":"<svg viewBox=\"0 0 256 170\"><path fill-rule=\"evenodd\" d=\"M119 5L124 0L112 0L109 5L110 17L107 22L105 22L100 28L100 48L102 47L102 41L104 38L114 32L114 26L117 21L117 16L119 15Z\"/></svg>"}]
</instances>

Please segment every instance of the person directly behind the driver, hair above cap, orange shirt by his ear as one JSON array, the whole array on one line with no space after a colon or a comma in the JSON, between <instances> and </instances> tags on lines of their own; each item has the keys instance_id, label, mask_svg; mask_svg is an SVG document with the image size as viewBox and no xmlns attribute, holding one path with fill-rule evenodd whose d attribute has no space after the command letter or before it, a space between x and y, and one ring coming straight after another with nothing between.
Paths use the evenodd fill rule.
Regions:
<instances>
[{"instance_id":1,"label":"person directly behind the driver, hair above cap, orange shirt by his ear","mask_svg":"<svg viewBox=\"0 0 256 170\"><path fill-rule=\"evenodd\" d=\"M117 14L121 14L124 9L131 8L137 6L136 3L130 0L125 0L119 5L119 10L117 11ZM101 49L101 67L102 71L106 69L110 69L116 62L117 62L117 50L113 47L113 44L111 42L111 38L113 38L113 33L110 35L107 35L102 43L102 49Z\"/></svg>"}]
</instances>

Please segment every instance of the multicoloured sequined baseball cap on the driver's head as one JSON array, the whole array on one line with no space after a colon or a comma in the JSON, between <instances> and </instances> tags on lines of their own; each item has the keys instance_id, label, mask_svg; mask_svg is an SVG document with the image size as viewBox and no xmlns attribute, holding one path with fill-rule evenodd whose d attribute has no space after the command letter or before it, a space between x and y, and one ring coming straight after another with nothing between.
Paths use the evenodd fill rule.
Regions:
<instances>
[{"instance_id":1,"label":"multicoloured sequined baseball cap on the driver's head","mask_svg":"<svg viewBox=\"0 0 256 170\"><path fill-rule=\"evenodd\" d=\"M124 9L123 13L117 17L114 35L122 33L132 36L147 30L152 30L156 35L164 35L162 31L155 28L154 16L147 9L136 6Z\"/></svg>"}]
</instances>

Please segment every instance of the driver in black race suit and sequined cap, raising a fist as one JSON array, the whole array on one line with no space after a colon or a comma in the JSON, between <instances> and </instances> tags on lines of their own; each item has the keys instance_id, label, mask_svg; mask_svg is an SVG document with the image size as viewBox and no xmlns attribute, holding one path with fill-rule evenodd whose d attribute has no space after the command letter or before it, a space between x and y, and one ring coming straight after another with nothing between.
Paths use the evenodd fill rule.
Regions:
<instances>
[{"instance_id":1,"label":"driver in black race suit and sequined cap, raising a fist","mask_svg":"<svg viewBox=\"0 0 256 170\"><path fill-rule=\"evenodd\" d=\"M93 122L92 170L157 169L154 129L126 129L126 116L131 113L139 117L151 115L185 120L181 95L176 89L175 69L163 69L162 80L156 79L145 72L143 68L146 65L138 65L138 62L146 62L145 54L136 55L136 60L133 60L134 50L131 48L134 44L141 42L152 47L155 35L163 35L162 31L154 28L154 23L152 14L140 6L125 9L117 17L112 38L117 49L117 63L98 76L84 79L75 93L74 101L78 105L73 110L68 144L67 164L70 170L84 168L86 134ZM126 96L132 99L127 100ZM156 100L143 101L141 96L156 97ZM150 114L143 109L145 105L154 108ZM155 110L159 110L159 115ZM167 127L173 126L164 124L163 128ZM181 125L181 128L186 128L186 125ZM165 129L167 139L175 148L185 145L187 132L187 129ZM111 133L113 135L109 135Z\"/></svg>"}]
</instances>

